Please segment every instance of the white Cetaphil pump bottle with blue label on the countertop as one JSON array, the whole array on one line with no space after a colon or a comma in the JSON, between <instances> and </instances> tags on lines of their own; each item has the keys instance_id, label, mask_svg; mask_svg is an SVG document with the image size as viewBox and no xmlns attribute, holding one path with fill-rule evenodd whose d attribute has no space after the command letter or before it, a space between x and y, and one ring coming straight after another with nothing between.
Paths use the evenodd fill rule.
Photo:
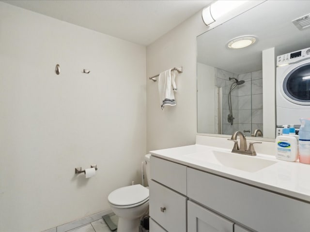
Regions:
<instances>
[{"instance_id":1,"label":"white Cetaphil pump bottle with blue label on the countertop","mask_svg":"<svg viewBox=\"0 0 310 232\"><path fill-rule=\"evenodd\" d=\"M276 158L292 162L298 158L297 140L294 136L290 136L287 125L284 125L282 135L276 138Z\"/></svg>"}]
</instances>

